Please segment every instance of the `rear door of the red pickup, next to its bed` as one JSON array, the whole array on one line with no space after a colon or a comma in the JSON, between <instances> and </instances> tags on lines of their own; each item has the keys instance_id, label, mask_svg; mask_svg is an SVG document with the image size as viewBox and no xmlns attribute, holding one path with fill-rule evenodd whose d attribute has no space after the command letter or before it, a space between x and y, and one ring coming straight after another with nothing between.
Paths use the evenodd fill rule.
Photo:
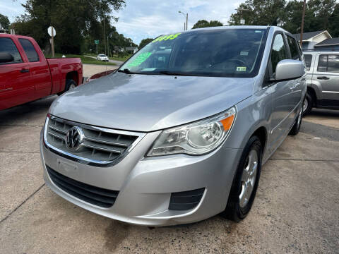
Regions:
<instances>
[{"instance_id":1,"label":"rear door of the red pickup, next to its bed","mask_svg":"<svg viewBox=\"0 0 339 254\"><path fill-rule=\"evenodd\" d=\"M51 75L49 73L49 67L46 59L40 53L40 50L37 51L37 44L34 42L34 45L30 40L19 38L18 40L23 47L23 50L28 59L28 70L30 71L30 75L26 80L27 83L33 85L35 87L34 97L35 99L39 99L50 95L52 90L52 81Z\"/></svg>"}]
</instances>

